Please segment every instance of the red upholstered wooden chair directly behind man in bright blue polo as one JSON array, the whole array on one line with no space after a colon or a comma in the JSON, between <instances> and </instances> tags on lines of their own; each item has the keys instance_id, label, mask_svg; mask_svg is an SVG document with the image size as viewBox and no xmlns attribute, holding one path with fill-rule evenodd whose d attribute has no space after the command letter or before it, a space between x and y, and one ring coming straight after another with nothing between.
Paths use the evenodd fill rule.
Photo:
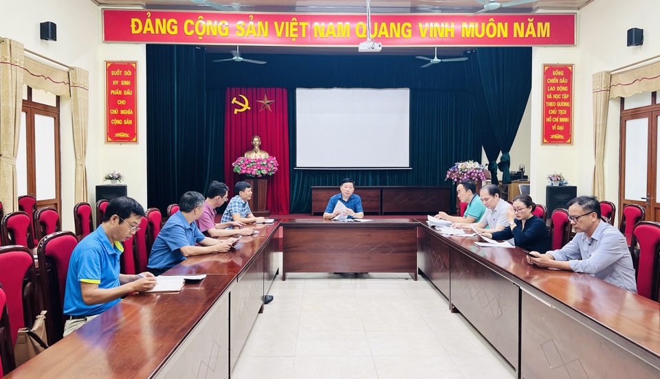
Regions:
<instances>
[{"instance_id":1,"label":"red upholstered wooden chair directly behind man in bright blue polo","mask_svg":"<svg viewBox=\"0 0 660 379\"><path fill-rule=\"evenodd\" d=\"M64 292L67 287L69 260L76 245L78 238L74 233L57 231L42 238L36 248L41 300L48 311L46 325L48 341L51 344L61 340L64 332Z\"/></svg>"}]
</instances>

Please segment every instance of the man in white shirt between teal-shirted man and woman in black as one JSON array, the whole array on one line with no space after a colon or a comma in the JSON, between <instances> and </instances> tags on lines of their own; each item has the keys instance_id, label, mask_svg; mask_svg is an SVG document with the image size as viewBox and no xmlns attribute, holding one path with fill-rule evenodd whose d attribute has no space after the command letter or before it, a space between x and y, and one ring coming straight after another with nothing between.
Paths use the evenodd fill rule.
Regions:
<instances>
[{"instance_id":1,"label":"man in white shirt between teal-shirted man and woman in black","mask_svg":"<svg viewBox=\"0 0 660 379\"><path fill-rule=\"evenodd\" d=\"M500 198L500 189L494 184L487 184L481 187L479 195L481 196L481 202L486 207L481 220L474 223L456 222L452 225L452 228L463 229L465 233L472 233L474 232L472 227L474 227L476 231L481 233L484 231L501 231L509 226L507 211L509 211L510 205L503 198Z\"/></svg>"}]
</instances>

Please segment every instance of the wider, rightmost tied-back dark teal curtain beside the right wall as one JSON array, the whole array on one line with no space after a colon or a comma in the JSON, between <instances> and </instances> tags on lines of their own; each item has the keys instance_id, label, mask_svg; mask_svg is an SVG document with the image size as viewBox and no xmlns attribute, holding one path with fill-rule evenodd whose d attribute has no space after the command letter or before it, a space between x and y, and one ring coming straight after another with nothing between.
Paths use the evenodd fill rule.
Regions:
<instances>
[{"instance_id":1,"label":"wider, rightmost tied-back dark teal curtain beside the right wall","mask_svg":"<svg viewBox=\"0 0 660 379\"><path fill-rule=\"evenodd\" d=\"M476 57L485 105L502 151L498 168L502 171L502 183L508 184L511 183L509 150L531 91L531 47L480 47L476 49Z\"/></svg>"}]
</instances>

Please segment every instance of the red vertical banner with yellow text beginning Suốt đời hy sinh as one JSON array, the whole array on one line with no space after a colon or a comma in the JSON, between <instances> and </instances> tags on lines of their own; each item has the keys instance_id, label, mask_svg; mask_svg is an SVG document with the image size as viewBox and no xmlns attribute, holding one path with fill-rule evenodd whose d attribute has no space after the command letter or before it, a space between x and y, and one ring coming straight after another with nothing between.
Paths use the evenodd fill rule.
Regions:
<instances>
[{"instance_id":1,"label":"red vertical banner with yellow text beginning Su\u1ed1t \u0111\u1eddi hy sinh","mask_svg":"<svg viewBox=\"0 0 660 379\"><path fill-rule=\"evenodd\" d=\"M137 143L137 62L105 62L106 142Z\"/></svg>"}]
</instances>

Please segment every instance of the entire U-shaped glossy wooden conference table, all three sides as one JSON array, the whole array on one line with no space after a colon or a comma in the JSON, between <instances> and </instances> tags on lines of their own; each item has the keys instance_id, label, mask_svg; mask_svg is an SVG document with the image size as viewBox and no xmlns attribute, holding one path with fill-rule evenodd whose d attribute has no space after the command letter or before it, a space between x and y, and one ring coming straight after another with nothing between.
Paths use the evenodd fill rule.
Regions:
<instances>
[{"instance_id":1,"label":"entire U-shaped glossy wooden conference table, all three sides","mask_svg":"<svg viewBox=\"0 0 660 379\"><path fill-rule=\"evenodd\" d=\"M129 296L8 378L228 378L280 255L285 279L327 268L410 273L410 254L520 378L660 376L659 303L590 275L529 266L521 249L479 248L411 219L256 228L236 253L190 257L166 273L206 273L200 283Z\"/></svg>"}]
</instances>

